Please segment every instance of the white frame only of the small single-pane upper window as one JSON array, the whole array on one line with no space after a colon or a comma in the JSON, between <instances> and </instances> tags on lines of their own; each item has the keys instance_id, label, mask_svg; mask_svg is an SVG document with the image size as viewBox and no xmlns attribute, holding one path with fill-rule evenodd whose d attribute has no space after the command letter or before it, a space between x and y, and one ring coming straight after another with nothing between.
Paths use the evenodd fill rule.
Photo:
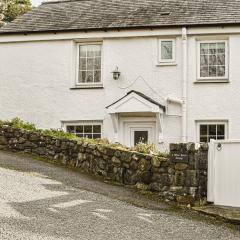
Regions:
<instances>
[{"instance_id":1,"label":"white frame only of the small single-pane upper window","mask_svg":"<svg viewBox=\"0 0 240 240\"><path fill-rule=\"evenodd\" d=\"M162 42L172 42L172 59L162 59ZM160 65L176 64L176 39L158 39L158 63Z\"/></svg>"}]
</instances>

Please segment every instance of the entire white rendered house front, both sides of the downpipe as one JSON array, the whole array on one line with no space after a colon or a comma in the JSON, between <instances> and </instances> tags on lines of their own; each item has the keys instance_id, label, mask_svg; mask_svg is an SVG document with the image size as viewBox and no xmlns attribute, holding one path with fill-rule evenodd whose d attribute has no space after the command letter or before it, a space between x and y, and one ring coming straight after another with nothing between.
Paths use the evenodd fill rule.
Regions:
<instances>
[{"instance_id":1,"label":"entire white rendered house front, both sides of the downpipe","mask_svg":"<svg viewBox=\"0 0 240 240\"><path fill-rule=\"evenodd\" d=\"M200 30L203 34L204 29ZM197 141L196 120L228 120L229 137L239 138L240 35L226 35L229 38L230 83L197 84L194 83L197 78L196 46L201 35L197 30L189 32L198 35L188 37L188 141ZM167 34L170 38L171 33ZM214 35L211 36L214 39ZM15 38L0 36L0 42ZM36 40L37 36L34 38ZM221 36L216 38L221 39ZM104 38L104 88L70 90L76 69L74 41L0 43L0 119L20 117L42 128L59 128L61 121L67 120L103 120L104 136L113 139L112 122L105 107L128 91L140 91L164 104L163 98L169 95L181 99L181 52L179 36L176 39L177 65L157 66L157 36ZM112 79L111 72L116 66L121 71L119 81ZM171 116L164 117L166 143L181 141L179 110L179 106L170 104L168 114Z\"/></svg>"}]
</instances>

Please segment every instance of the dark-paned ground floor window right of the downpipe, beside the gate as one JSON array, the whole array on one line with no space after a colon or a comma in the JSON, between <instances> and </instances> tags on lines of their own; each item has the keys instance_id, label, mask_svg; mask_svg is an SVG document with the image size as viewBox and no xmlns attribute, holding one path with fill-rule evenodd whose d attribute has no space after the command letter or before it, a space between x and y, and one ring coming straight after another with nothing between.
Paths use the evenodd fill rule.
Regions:
<instances>
[{"instance_id":1,"label":"dark-paned ground floor window right of the downpipe, beside the gate","mask_svg":"<svg viewBox=\"0 0 240 240\"><path fill-rule=\"evenodd\" d=\"M226 123L225 122L202 122L199 123L199 139L200 142L210 142L211 139L226 139Z\"/></svg>"}]
</instances>

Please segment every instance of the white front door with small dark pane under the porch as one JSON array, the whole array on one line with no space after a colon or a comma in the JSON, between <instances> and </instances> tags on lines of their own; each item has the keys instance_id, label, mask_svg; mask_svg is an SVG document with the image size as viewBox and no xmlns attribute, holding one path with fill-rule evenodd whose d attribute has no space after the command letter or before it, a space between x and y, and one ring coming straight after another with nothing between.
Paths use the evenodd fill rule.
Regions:
<instances>
[{"instance_id":1,"label":"white front door with small dark pane under the porch","mask_svg":"<svg viewBox=\"0 0 240 240\"><path fill-rule=\"evenodd\" d=\"M155 122L126 122L124 124L124 144L133 147L139 142L156 143Z\"/></svg>"}]
</instances>

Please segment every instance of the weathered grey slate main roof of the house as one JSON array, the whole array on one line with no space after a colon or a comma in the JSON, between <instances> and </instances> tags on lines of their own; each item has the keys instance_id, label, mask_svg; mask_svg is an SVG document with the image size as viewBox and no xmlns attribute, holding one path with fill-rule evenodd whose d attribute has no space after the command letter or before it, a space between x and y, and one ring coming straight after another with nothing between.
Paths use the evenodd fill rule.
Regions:
<instances>
[{"instance_id":1,"label":"weathered grey slate main roof of the house","mask_svg":"<svg viewBox=\"0 0 240 240\"><path fill-rule=\"evenodd\" d=\"M43 3L0 33L239 23L240 0L59 0Z\"/></svg>"}]
</instances>

